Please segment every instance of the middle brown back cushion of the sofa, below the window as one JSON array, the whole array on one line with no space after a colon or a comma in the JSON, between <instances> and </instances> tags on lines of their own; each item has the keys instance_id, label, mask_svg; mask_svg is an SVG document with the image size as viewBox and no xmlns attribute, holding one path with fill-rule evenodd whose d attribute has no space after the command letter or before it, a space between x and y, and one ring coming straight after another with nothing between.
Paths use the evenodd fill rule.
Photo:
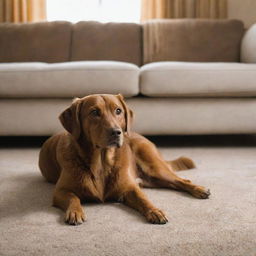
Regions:
<instances>
[{"instance_id":1,"label":"middle brown back cushion of the sofa, below the window","mask_svg":"<svg viewBox=\"0 0 256 256\"><path fill-rule=\"evenodd\" d=\"M141 41L139 24L81 21L73 25L71 60L115 60L141 65Z\"/></svg>"}]
</instances>

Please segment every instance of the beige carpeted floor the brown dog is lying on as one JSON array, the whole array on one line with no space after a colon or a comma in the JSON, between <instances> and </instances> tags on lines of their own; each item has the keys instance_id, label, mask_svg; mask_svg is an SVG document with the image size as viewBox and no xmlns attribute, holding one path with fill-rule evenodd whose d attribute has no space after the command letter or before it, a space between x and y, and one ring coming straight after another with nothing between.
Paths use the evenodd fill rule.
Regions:
<instances>
[{"instance_id":1,"label":"beige carpeted floor the brown dog is lying on","mask_svg":"<svg viewBox=\"0 0 256 256\"><path fill-rule=\"evenodd\" d=\"M211 189L208 200L144 189L169 217L148 224L119 203L85 204L88 220L64 224L51 206L54 186L38 169L45 138L5 138L0 148L0 255L256 255L255 136L150 137L166 159L189 156L179 172Z\"/></svg>"}]
</instances>

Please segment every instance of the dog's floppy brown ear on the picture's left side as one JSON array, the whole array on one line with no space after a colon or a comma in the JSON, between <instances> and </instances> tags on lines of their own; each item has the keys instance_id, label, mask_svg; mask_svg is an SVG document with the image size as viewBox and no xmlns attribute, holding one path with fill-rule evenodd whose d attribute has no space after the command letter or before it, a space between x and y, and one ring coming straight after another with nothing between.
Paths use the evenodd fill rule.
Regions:
<instances>
[{"instance_id":1,"label":"dog's floppy brown ear on the picture's left side","mask_svg":"<svg viewBox=\"0 0 256 256\"><path fill-rule=\"evenodd\" d=\"M75 98L72 105L64 110L60 116L59 120L63 127L73 135L77 140L81 134L81 124L80 124L80 109L82 101L79 98Z\"/></svg>"}]
</instances>

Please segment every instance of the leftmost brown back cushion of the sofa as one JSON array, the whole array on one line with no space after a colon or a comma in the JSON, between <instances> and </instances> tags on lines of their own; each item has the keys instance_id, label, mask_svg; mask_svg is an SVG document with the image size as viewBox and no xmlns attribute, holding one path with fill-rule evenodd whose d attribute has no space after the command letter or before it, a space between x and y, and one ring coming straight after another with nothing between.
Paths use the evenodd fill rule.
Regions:
<instances>
[{"instance_id":1,"label":"leftmost brown back cushion of the sofa","mask_svg":"<svg viewBox=\"0 0 256 256\"><path fill-rule=\"evenodd\" d=\"M0 62L62 62L69 59L71 23L0 24Z\"/></svg>"}]
</instances>

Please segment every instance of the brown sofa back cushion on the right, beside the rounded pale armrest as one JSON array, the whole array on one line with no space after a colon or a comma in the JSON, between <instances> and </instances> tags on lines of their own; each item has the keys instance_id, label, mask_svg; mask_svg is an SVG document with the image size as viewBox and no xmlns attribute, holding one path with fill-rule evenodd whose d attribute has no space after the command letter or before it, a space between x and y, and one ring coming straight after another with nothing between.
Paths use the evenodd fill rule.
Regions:
<instances>
[{"instance_id":1,"label":"brown sofa back cushion on the right, beside the rounded pale armrest","mask_svg":"<svg viewBox=\"0 0 256 256\"><path fill-rule=\"evenodd\" d=\"M243 34L238 20L149 21L143 24L144 63L238 62Z\"/></svg>"}]
</instances>

